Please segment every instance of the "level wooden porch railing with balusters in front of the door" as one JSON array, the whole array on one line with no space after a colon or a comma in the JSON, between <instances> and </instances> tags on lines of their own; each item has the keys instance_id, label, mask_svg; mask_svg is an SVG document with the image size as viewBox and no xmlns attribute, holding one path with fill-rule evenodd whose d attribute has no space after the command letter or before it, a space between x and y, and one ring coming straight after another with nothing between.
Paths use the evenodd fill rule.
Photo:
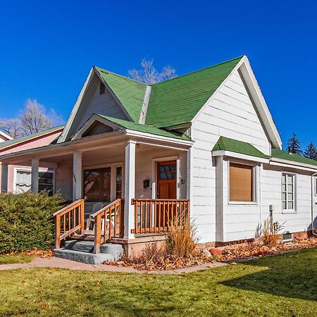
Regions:
<instances>
[{"instance_id":1,"label":"level wooden porch railing with balusters in front of the door","mask_svg":"<svg viewBox=\"0 0 317 317\"><path fill-rule=\"evenodd\" d=\"M135 229L132 233L168 232L170 220L189 217L189 199L132 199Z\"/></svg>"}]
</instances>

